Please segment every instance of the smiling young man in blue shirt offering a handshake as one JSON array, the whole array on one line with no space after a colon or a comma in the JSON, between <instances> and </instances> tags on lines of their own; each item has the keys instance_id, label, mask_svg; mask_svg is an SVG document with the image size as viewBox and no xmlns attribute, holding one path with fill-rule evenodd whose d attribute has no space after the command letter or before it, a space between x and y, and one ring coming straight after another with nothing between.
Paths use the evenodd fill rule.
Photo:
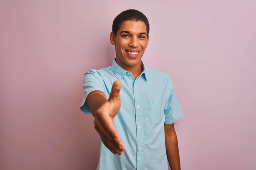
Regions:
<instances>
[{"instance_id":1,"label":"smiling young man in blue shirt offering a handshake","mask_svg":"<svg viewBox=\"0 0 256 170\"><path fill-rule=\"evenodd\" d=\"M174 122L182 117L168 74L142 62L148 19L137 10L120 13L110 34L113 65L89 70L81 111L92 113L100 136L97 170L180 170ZM121 104L122 102L122 104Z\"/></svg>"}]
</instances>

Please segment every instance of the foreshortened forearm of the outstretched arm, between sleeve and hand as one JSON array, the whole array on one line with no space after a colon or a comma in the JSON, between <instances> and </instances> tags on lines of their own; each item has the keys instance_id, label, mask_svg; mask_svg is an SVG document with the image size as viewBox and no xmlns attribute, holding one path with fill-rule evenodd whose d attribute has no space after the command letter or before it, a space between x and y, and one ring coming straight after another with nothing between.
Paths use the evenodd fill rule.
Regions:
<instances>
[{"instance_id":1,"label":"foreshortened forearm of the outstretched arm, between sleeve and hand","mask_svg":"<svg viewBox=\"0 0 256 170\"><path fill-rule=\"evenodd\" d=\"M93 91L87 96L86 102L93 117L96 117L96 111L106 100L107 96L102 91Z\"/></svg>"}]
</instances>

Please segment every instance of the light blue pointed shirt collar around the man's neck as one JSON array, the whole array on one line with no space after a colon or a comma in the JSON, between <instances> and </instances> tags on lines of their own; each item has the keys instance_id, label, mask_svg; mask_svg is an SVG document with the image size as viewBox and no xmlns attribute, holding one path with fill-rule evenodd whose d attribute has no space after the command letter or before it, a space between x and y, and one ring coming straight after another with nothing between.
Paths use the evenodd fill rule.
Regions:
<instances>
[{"instance_id":1,"label":"light blue pointed shirt collar around the man's neck","mask_svg":"<svg viewBox=\"0 0 256 170\"><path fill-rule=\"evenodd\" d=\"M144 75L145 79L148 80L147 68L144 66L143 61L141 61L141 65L143 67L143 72L140 74L140 76ZM122 79L123 77L125 77L126 72L129 72L117 64L116 58L113 59L112 69L113 69L114 74L116 74L119 77L119 80Z\"/></svg>"}]
</instances>

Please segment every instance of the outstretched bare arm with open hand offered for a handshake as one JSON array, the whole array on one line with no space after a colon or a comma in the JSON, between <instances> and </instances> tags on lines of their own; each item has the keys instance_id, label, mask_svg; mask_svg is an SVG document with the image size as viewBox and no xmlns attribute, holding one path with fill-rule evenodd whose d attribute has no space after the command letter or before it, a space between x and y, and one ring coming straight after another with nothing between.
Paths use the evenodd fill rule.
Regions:
<instances>
[{"instance_id":1,"label":"outstretched bare arm with open hand offered for a handshake","mask_svg":"<svg viewBox=\"0 0 256 170\"><path fill-rule=\"evenodd\" d=\"M119 155L125 150L124 144L113 125L114 117L121 107L120 99L121 84L114 82L109 99L103 91L91 91L86 99L90 113L95 117L95 129L101 136L102 142L114 154Z\"/></svg>"}]
</instances>

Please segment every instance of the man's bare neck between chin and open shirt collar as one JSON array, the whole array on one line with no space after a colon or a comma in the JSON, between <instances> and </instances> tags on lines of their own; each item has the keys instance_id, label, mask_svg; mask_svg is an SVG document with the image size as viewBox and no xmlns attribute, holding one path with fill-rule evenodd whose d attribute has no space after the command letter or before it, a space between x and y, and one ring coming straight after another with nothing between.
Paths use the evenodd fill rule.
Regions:
<instances>
[{"instance_id":1,"label":"man's bare neck between chin and open shirt collar","mask_svg":"<svg viewBox=\"0 0 256 170\"><path fill-rule=\"evenodd\" d=\"M142 62L140 60L140 62L137 65L126 65L124 62L122 62L121 59L119 59L118 57L116 57L116 63L118 65L120 65L120 67L122 67L123 69L125 69L126 71L131 72L131 74L133 75L133 77L136 79L138 76L140 76L140 74L143 72L143 67L142 67Z\"/></svg>"}]
</instances>

